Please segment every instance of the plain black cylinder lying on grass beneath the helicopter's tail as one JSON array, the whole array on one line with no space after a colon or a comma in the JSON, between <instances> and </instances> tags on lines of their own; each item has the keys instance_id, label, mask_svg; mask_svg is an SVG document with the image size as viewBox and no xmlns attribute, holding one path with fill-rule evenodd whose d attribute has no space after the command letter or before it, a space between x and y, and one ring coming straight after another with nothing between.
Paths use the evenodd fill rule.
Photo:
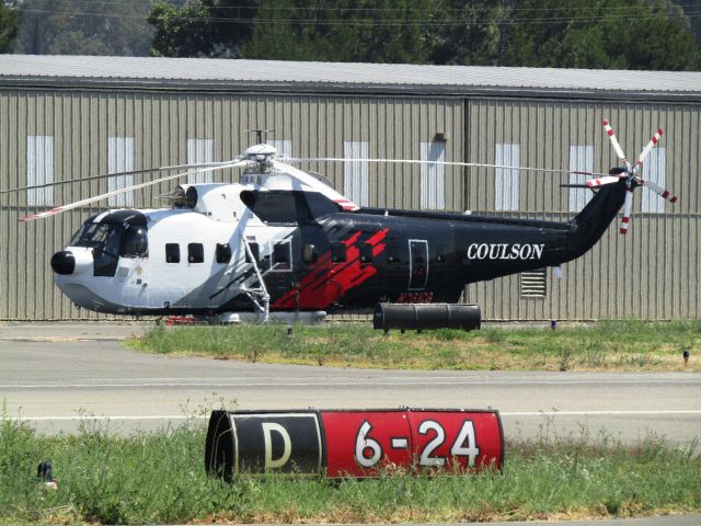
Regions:
<instances>
[{"instance_id":1,"label":"plain black cylinder lying on grass beneath the helicopter's tail","mask_svg":"<svg viewBox=\"0 0 701 526\"><path fill-rule=\"evenodd\" d=\"M476 305L377 304L375 329L480 329L482 317Z\"/></svg>"}]
</instances>

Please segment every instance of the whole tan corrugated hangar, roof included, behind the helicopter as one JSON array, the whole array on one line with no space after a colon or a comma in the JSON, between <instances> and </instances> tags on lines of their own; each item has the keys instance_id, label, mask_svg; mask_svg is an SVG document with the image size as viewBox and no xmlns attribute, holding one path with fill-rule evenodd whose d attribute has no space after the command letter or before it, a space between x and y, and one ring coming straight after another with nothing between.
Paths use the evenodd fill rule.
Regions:
<instances>
[{"instance_id":1,"label":"whole tan corrugated hangar, roof included, behind the helicopter","mask_svg":"<svg viewBox=\"0 0 701 526\"><path fill-rule=\"evenodd\" d=\"M253 129L292 157L485 162L607 172L609 118L635 159L665 134L637 191L631 231L617 225L562 268L471 285L489 320L701 317L701 73L135 57L0 56L0 188L156 165L227 160ZM364 205L567 220L581 175L525 170L312 163ZM238 176L237 174L233 174ZM51 253L84 218L19 218L138 183L110 178L0 195L0 320L97 318L51 283ZM203 172L193 180L225 181ZM162 184L104 206L152 207Z\"/></svg>"}]
</instances>

